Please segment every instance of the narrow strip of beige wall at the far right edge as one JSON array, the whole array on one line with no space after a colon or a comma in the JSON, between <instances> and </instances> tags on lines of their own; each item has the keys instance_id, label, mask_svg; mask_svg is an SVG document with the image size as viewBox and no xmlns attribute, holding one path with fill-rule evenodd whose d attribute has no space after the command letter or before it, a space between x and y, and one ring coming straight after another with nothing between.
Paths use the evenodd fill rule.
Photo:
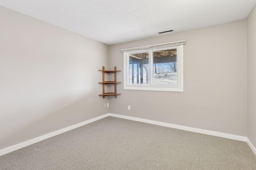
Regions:
<instances>
[{"instance_id":1,"label":"narrow strip of beige wall at the far right edge","mask_svg":"<svg viewBox=\"0 0 256 170\"><path fill-rule=\"evenodd\" d=\"M247 35L247 137L256 146L256 7L246 20Z\"/></svg>"}]
</instances>

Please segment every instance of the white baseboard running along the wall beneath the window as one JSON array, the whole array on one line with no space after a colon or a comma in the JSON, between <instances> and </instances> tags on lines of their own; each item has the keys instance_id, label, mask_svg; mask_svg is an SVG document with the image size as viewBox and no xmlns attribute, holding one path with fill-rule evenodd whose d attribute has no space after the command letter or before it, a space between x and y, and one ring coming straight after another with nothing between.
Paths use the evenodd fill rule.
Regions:
<instances>
[{"instance_id":1,"label":"white baseboard running along the wall beneath the window","mask_svg":"<svg viewBox=\"0 0 256 170\"><path fill-rule=\"evenodd\" d=\"M141 119L141 118L137 118L137 117L117 115L117 114L113 114L113 113L109 113L109 115L113 116L113 117L123 118L123 119L140 121L140 122L150 123L150 124L154 124L154 125L171 127L171 128L174 128L174 129L181 129L181 130L185 130L185 131L191 131L191 132L202 133L202 134L206 134L206 135L212 135L212 136L217 136L217 137L224 137L224 138L228 138L228 139L234 139L234 140L246 142L246 137L238 136L238 135L231 135L231 134L228 134L228 133L208 131L208 130L204 130L204 129L197 129L197 128L194 128L194 127L174 125L174 124L171 124L171 123L163 123L163 122L160 122L160 121L153 121L153 120Z\"/></svg>"}]
</instances>

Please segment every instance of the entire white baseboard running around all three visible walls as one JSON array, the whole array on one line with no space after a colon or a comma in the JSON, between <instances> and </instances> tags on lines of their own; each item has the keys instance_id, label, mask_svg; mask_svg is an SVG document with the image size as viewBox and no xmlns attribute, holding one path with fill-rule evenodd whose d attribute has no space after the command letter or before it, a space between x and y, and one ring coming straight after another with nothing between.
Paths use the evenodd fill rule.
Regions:
<instances>
[{"instance_id":1,"label":"entire white baseboard running around all three visible walls","mask_svg":"<svg viewBox=\"0 0 256 170\"><path fill-rule=\"evenodd\" d=\"M154 124L154 125L160 125L160 126L165 126L165 127L171 127L171 128L175 128L175 129L181 129L181 130L185 130L185 131L192 131L192 132L196 132L196 133L202 133L202 134L206 134L206 135L213 135L213 136L218 136L218 137L224 137L224 138L228 138L228 139L234 139L234 140L238 140L238 141L246 141L248 143L248 145L250 146L250 148L253 150L253 152L256 154L256 149L254 147L254 145L252 145L252 143L250 142L250 140L247 137L242 137L242 136L238 136L238 135L231 135L231 134L227 134L227 133L221 133L221 132L215 132L215 131L208 131L208 130L204 130L204 129L197 129L197 128L193 128L193 127L186 127L186 126L181 126L181 125L174 125L174 124L170 124L170 123L163 123L163 122L159 122L159 121L152 121L152 120L148 120L148 119L141 119L141 118L137 118L137 117L130 117L130 116L125 116L125 115L118 115L118 114L113 114L113 113L107 113L105 115L101 115L99 117L95 117L93 119L78 123L76 125L72 125L69 127L66 127L64 129L60 129L58 131L54 131L52 133L48 133L46 135L19 143L17 145L13 145L11 147L5 148L0 150L0 156L7 154L9 152L12 152L14 150L18 150L21 149L23 147L26 147L28 145L32 145L34 143L43 141L45 139L48 139L50 137L54 137L56 135L59 135L61 133L64 133L66 131L70 131L72 129L78 128L80 126L86 125L88 123L92 123L94 121L97 121L99 119L102 119L104 117L108 117L108 116L112 116L112 117L119 117L119 118L123 118L123 119L129 119L129 120L134 120L134 121L140 121L140 122L144 122L144 123L150 123L150 124Z\"/></svg>"}]
</instances>

